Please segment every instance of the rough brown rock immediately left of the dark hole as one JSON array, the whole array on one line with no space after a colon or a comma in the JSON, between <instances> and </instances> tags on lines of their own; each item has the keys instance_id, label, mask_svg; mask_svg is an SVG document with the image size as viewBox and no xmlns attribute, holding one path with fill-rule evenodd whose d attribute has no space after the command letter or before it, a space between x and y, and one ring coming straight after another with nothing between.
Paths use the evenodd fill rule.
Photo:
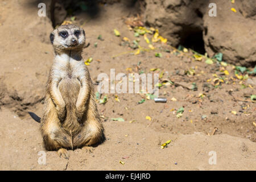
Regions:
<instances>
[{"instance_id":1,"label":"rough brown rock immediately left of the dark hole","mask_svg":"<svg viewBox=\"0 0 256 182\"><path fill-rule=\"evenodd\" d=\"M208 1L145 0L144 21L159 28L172 46L183 44L190 35L203 31L203 14ZM203 36L203 35L202 35Z\"/></svg>"}]
</instances>

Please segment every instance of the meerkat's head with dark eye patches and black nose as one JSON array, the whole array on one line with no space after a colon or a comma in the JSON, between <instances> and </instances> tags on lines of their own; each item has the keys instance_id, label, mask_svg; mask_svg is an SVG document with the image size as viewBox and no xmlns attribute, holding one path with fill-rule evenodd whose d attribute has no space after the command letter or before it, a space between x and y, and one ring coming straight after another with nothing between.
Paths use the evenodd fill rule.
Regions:
<instances>
[{"instance_id":1,"label":"meerkat's head with dark eye patches and black nose","mask_svg":"<svg viewBox=\"0 0 256 182\"><path fill-rule=\"evenodd\" d=\"M55 51L82 49L85 32L75 24L61 25L51 32L50 40Z\"/></svg>"}]
</instances>

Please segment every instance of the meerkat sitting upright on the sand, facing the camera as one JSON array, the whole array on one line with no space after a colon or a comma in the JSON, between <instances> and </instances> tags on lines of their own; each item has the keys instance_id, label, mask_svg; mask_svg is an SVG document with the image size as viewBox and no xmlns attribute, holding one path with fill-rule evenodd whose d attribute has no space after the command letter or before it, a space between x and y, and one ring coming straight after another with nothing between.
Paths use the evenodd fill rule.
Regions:
<instances>
[{"instance_id":1,"label":"meerkat sitting upright on the sand, facing the camera","mask_svg":"<svg viewBox=\"0 0 256 182\"><path fill-rule=\"evenodd\" d=\"M104 140L89 70L82 60L85 32L75 24L61 25L50 34L55 51L40 121L46 150L68 158L68 150Z\"/></svg>"}]
</instances>

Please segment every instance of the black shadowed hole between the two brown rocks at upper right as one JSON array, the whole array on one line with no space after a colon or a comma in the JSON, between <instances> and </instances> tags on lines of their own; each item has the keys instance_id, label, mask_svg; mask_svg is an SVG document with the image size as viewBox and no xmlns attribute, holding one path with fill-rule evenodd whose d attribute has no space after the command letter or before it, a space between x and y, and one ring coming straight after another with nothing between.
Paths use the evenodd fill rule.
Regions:
<instances>
[{"instance_id":1,"label":"black shadowed hole between the two brown rocks at upper right","mask_svg":"<svg viewBox=\"0 0 256 182\"><path fill-rule=\"evenodd\" d=\"M180 44L185 48L191 48L198 53L205 54L203 31L189 34Z\"/></svg>"}]
</instances>

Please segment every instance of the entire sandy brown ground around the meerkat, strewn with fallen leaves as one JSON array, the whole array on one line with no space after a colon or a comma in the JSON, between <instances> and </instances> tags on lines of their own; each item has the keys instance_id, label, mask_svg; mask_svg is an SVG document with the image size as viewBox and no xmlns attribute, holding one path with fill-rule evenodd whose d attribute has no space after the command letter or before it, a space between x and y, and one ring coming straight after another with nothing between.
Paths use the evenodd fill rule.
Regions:
<instances>
[{"instance_id":1,"label":"entire sandy brown ground around the meerkat, strewn with fallen leaves","mask_svg":"<svg viewBox=\"0 0 256 182\"><path fill-rule=\"evenodd\" d=\"M226 69L229 82L214 88L208 79L213 74L223 77L220 67L194 61L187 56L176 56L164 52L172 49L160 43L154 44L157 51L142 52L139 55L123 53L133 51L120 46L125 36L134 40L134 32L123 23L122 17L133 10L121 5L102 6L93 18L77 14L76 23L86 32L90 46L83 57L93 57L89 65L94 82L99 73L110 75L110 68L117 73L146 73L151 68L164 71L163 78L177 83L191 85L196 82L196 91L184 86L168 85L159 90L167 103L155 104L146 100L138 104L140 94L103 94L108 96L105 105L98 105L105 127L106 140L94 148L92 154L81 149L69 151L70 158L59 158L55 151L44 151L39 132L39 123L27 114L33 111L42 115L42 98L52 64L53 51L49 43L51 23L47 18L37 16L37 5L28 1L0 2L0 169L2 170L255 170L255 110L253 102L245 102L255 94L255 77L248 82L232 80L232 66ZM68 18L67 18L68 19ZM117 28L120 37L114 36ZM102 35L102 40L98 40ZM143 37L140 45L147 46ZM94 44L97 42L97 48ZM155 57L161 52L163 57ZM122 54L123 53L123 54ZM116 56L113 59L113 56ZM194 76L184 72L189 68ZM160 73L160 72L159 72ZM243 86L244 87L244 86ZM204 97L198 97L204 93ZM118 96L120 102L114 100ZM171 101L171 98L177 101ZM181 106L184 113L176 117ZM233 114L232 111L237 111ZM151 121L146 116L152 118ZM205 117L206 116L206 117ZM125 122L110 118L122 117ZM203 119L202 119L203 118ZM134 121L130 123L129 121ZM212 135L214 128L218 130ZM167 148L160 145L172 140ZM209 164L209 152L216 154L216 164ZM46 152L46 164L42 156ZM211 154L211 153L210 153ZM122 161L124 164L119 163Z\"/></svg>"}]
</instances>

